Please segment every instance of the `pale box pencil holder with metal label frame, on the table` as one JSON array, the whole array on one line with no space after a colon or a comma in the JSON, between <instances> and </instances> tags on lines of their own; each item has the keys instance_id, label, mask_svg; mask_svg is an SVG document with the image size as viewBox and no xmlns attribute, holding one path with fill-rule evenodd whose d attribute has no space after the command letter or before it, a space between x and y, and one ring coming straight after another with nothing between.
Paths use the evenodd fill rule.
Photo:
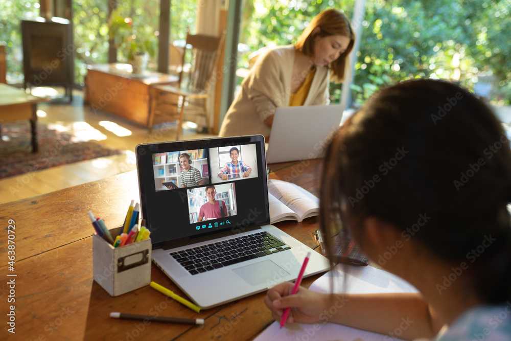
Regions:
<instances>
[{"instance_id":1,"label":"pale box pencil holder with metal label frame, on the table","mask_svg":"<svg viewBox=\"0 0 511 341\"><path fill-rule=\"evenodd\" d=\"M121 228L110 230L118 235ZM94 280L110 295L119 296L151 282L151 239L113 247L97 234L92 236Z\"/></svg>"}]
</instances>

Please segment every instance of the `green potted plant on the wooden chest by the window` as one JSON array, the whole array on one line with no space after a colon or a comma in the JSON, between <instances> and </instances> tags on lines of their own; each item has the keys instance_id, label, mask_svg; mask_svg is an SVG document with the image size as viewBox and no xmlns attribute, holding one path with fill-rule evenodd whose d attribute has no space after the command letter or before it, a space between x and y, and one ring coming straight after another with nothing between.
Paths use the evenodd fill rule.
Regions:
<instances>
[{"instance_id":1,"label":"green potted plant on the wooden chest by the window","mask_svg":"<svg viewBox=\"0 0 511 341\"><path fill-rule=\"evenodd\" d=\"M133 73L138 74L146 69L149 57L154 57L156 37L144 32L143 28L134 27L133 20L121 15L121 10L122 7L118 7L112 11L108 19L108 36L132 65Z\"/></svg>"}]
</instances>

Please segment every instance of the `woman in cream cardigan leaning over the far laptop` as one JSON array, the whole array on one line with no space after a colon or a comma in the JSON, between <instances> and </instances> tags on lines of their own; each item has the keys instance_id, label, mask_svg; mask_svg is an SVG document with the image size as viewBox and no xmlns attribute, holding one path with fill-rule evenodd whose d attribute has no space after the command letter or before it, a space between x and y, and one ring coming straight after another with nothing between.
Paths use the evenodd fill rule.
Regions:
<instances>
[{"instance_id":1,"label":"woman in cream cardigan leaning over the far laptop","mask_svg":"<svg viewBox=\"0 0 511 341\"><path fill-rule=\"evenodd\" d=\"M327 104L329 82L344 80L354 43L350 21L329 9L311 20L296 44L266 49L241 84L219 136L268 139L277 107Z\"/></svg>"}]
</instances>

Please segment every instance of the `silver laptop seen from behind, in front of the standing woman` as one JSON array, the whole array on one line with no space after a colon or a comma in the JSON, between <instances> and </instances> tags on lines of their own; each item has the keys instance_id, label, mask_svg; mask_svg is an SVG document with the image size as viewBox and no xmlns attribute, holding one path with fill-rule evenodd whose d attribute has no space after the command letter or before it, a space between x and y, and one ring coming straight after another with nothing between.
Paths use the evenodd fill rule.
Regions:
<instances>
[{"instance_id":1,"label":"silver laptop seen from behind, in front of the standing woman","mask_svg":"<svg viewBox=\"0 0 511 341\"><path fill-rule=\"evenodd\" d=\"M323 157L333 134L339 129L343 111L341 104L276 108L266 162Z\"/></svg>"}]
</instances>

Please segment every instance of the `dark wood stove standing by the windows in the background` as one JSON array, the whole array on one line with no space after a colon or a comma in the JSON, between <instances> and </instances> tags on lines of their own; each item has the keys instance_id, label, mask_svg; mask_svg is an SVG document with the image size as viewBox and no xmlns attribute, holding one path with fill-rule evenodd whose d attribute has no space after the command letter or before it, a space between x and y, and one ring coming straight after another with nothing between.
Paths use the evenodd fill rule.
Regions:
<instances>
[{"instance_id":1,"label":"dark wood stove standing by the windows in the background","mask_svg":"<svg viewBox=\"0 0 511 341\"><path fill-rule=\"evenodd\" d=\"M73 99L72 26L59 17L21 20L25 88L63 86L65 95Z\"/></svg>"}]
</instances>

